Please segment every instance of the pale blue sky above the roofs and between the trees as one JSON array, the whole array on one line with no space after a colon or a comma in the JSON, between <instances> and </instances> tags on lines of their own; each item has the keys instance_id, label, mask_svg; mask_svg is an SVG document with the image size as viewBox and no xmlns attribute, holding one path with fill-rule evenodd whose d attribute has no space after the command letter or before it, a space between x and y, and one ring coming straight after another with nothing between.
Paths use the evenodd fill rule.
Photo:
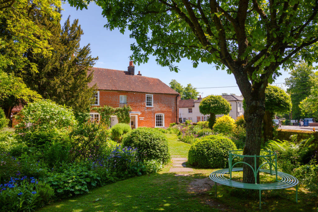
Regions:
<instances>
[{"instance_id":1,"label":"pale blue sky above the roofs and between the trees","mask_svg":"<svg viewBox=\"0 0 318 212\"><path fill-rule=\"evenodd\" d=\"M64 24L69 15L72 22L74 19L79 19L79 24L84 32L80 42L81 46L90 43L92 56L99 57L94 67L127 70L129 56L132 54L130 44L135 42L134 39L129 38L129 31L123 35L118 30L110 31L104 28L107 19L101 15L101 8L95 4L90 4L88 10L76 10L68 3L63 4L62 7L64 10L62 11L61 24ZM178 73L170 72L168 67L157 65L155 57L150 57L147 64L135 65L135 73L140 71L143 76L159 78L166 84L169 84L171 79L176 79L183 86L191 83L197 88L236 86L233 74L229 75L222 70L217 71L213 65L200 63L197 68L193 68L188 59L183 59L176 65L180 71ZM285 82L287 77L289 77L288 72L282 72L282 76L277 78L275 82ZM238 87L197 90L203 92L203 96L221 93L241 94Z\"/></svg>"}]
</instances>

